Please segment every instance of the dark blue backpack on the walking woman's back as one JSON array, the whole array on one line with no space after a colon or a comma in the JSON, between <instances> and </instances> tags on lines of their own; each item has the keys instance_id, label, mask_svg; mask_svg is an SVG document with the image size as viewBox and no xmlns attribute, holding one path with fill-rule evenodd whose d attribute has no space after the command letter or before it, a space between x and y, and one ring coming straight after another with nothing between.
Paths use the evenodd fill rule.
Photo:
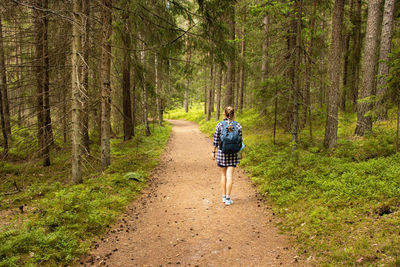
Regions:
<instances>
[{"instance_id":1,"label":"dark blue backpack on the walking woman's back","mask_svg":"<svg viewBox=\"0 0 400 267\"><path fill-rule=\"evenodd\" d=\"M242 147L242 137L239 135L237 122L222 121L222 132L220 137L220 149L225 154L238 153ZM229 131L229 125L232 125L232 131Z\"/></svg>"}]
</instances>

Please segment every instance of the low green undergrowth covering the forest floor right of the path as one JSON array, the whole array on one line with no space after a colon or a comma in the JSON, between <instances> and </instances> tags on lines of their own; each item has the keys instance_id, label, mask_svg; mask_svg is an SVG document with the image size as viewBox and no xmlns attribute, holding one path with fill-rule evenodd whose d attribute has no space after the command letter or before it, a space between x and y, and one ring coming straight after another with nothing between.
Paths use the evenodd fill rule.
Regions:
<instances>
[{"instance_id":1,"label":"low green undergrowth covering the forest floor right of the path","mask_svg":"<svg viewBox=\"0 0 400 267\"><path fill-rule=\"evenodd\" d=\"M204 120L200 106L170 118L191 120L212 135L216 120ZM356 117L341 114L338 146L325 150L322 117L313 118L313 141L302 130L298 163L290 159L290 133L272 119L248 110L243 126L241 166L281 218L279 227L295 237L298 251L315 266L400 265L400 153L395 122L375 124L365 137L353 136Z\"/></svg>"}]
</instances>

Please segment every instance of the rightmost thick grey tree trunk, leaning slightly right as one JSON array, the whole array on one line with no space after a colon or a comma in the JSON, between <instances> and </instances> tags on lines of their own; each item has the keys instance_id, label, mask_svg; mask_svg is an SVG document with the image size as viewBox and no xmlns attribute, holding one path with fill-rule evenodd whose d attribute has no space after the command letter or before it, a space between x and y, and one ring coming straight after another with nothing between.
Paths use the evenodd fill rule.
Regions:
<instances>
[{"instance_id":1,"label":"rightmost thick grey tree trunk, leaning slightly right","mask_svg":"<svg viewBox=\"0 0 400 267\"><path fill-rule=\"evenodd\" d=\"M393 34L393 14L394 0L385 0L385 8L382 21L381 48L379 53L378 83L376 88L376 95L378 98L378 101L376 103L378 120L388 119L386 79L389 74L388 61Z\"/></svg>"}]
</instances>

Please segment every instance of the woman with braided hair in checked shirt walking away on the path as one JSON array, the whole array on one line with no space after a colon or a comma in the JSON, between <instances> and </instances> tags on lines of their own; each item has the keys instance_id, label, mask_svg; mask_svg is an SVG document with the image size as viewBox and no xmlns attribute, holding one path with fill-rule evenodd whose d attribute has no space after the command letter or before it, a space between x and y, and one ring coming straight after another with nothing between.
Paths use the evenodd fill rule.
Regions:
<instances>
[{"instance_id":1,"label":"woman with braided hair in checked shirt walking away on the path","mask_svg":"<svg viewBox=\"0 0 400 267\"><path fill-rule=\"evenodd\" d=\"M212 151L212 157L213 160L217 159L217 165L221 169L222 202L225 203L225 205L231 205L233 203L231 199L233 170L240 163L240 156L238 152L242 146L243 136L242 126L233 120L235 116L233 107L226 107L224 113L225 119L219 122L215 128L213 141L214 150ZM229 151L225 149L225 147L222 147L224 135L227 135L228 132L232 133L231 136L234 137L235 135L238 135L237 139L239 139L239 143L233 145L239 146L239 149L234 148L232 150L237 150L236 152Z\"/></svg>"}]
</instances>

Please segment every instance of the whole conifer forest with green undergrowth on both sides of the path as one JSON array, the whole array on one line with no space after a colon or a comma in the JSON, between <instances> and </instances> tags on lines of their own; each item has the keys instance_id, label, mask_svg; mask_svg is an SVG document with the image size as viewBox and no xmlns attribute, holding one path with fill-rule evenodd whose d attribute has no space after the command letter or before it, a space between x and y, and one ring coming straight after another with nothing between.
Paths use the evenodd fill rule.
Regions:
<instances>
[{"instance_id":1,"label":"whole conifer forest with green undergrowth on both sides of the path","mask_svg":"<svg viewBox=\"0 0 400 267\"><path fill-rule=\"evenodd\" d=\"M0 12L0 266L73 262L144 186L163 117L211 134L226 105L244 168L305 257L400 264L399 2L3 0Z\"/></svg>"}]
</instances>

